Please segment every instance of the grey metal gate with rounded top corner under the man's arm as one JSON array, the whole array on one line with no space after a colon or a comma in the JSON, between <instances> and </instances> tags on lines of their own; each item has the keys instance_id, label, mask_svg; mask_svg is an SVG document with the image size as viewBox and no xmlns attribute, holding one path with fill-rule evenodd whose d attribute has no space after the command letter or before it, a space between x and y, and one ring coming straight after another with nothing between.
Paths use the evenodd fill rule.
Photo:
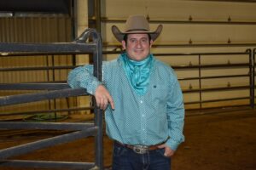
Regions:
<instances>
[{"instance_id":1,"label":"grey metal gate with rounded top corner under the man's arm","mask_svg":"<svg viewBox=\"0 0 256 170\"><path fill-rule=\"evenodd\" d=\"M92 40L92 41L90 41ZM15 55L42 54L93 54L94 76L102 81L102 37L94 29L85 30L73 42L56 43L5 43L0 42L0 57ZM67 83L15 83L1 84L1 89L13 90L49 90L34 94L18 94L0 98L0 106L15 105L46 99L67 98L89 95L84 88L70 88ZM94 99L95 101L95 99ZM71 122L0 122L0 129L52 129L70 130L72 133L42 139L0 150L0 167L66 167L68 169L103 169L103 133L102 110L94 107L94 123ZM95 136L95 162L73 161L23 161L10 160L11 156L20 156L33 150L43 149L55 144L63 144L76 139Z\"/></svg>"}]
</instances>

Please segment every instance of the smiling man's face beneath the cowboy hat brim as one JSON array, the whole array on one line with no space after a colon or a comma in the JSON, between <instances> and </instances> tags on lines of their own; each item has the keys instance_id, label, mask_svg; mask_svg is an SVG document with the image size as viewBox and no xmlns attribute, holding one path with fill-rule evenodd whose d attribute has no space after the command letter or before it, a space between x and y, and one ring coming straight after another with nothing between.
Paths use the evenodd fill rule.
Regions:
<instances>
[{"instance_id":1,"label":"smiling man's face beneath the cowboy hat brim","mask_svg":"<svg viewBox=\"0 0 256 170\"><path fill-rule=\"evenodd\" d=\"M122 41L123 48L128 57L132 60L140 61L146 59L150 53L153 41L148 38L148 34L128 34L127 44Z\"/></svg>"}]
</instances>

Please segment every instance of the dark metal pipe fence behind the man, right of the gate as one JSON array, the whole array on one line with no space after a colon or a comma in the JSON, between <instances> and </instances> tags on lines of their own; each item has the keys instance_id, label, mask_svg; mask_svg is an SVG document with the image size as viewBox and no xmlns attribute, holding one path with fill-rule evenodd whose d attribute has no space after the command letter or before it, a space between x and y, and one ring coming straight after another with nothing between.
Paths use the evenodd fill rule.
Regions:
<instances>
[{"instance_id":1,"label":"dark metal pipe fence behind the man, right of the gate","mask_svg":"<svg viewBox=\"0 0 256 170\"><path fill-rule=\"evenodd\" d=\"M123 51L104 51L103 54L120 54L123 53ZM249 62L248 63L230 63L228 62L227 64L212 64L212 65L203 65L201 63L201 58L202 56L204 57L211 57L211 56L216 56L216 55L225 55L225 56L237 56L237 55L244 55L248 57ZM252 59L252 53L250 49L247 49L245 52L223 52L223 53L165 53L165 54L159 54L155 53L154 56L156 57L172 57L172 56L195 56L198 58L198 65L170 65L172 66L173 69L179 71L179 70L198 70L198 77L184 77L180 78L178 77L179 81L189 81L189 80L198 80L199 81L199 88L189 88L189 89L183 89L183 94L191 94L191 93L198 93L199 94L199 100L198 101L193 101L193 102L186 102L185 105L189 104L199 104L200 109L202 109L202 104L203 103L211 103L211 102L221 102L221 101L228 101L228 100L239 100L239 99L249 99L250 106L253 108L254 101L252 96L253 94L253 83L252 77L253 77L253 71L252 69L254 68L254 65L250 63L250 60ZM248 69L248 74L238 74L238 75L221 75L221 76L208 76L208 77L203 77L201 74L201 71L204 69L218 69L218 68L224 68L224 69L234 69L234 68L245 68ZM209 80L209 79L217 79L217 78L227 78L227 77L248 77L251 82L248 85L241 85L241 86L228 86L228 87L218 87L218 88L202 88L201 80ZM239 98L232 98L232 99L207 99L203 100L202 99L202 93L206 92L218 92L218 91L230 91L230 90L249 90L250 91L250 96L248 97L239 97ZM227 96L228 97L228 96Z\"/></svg>"}]
</instances>

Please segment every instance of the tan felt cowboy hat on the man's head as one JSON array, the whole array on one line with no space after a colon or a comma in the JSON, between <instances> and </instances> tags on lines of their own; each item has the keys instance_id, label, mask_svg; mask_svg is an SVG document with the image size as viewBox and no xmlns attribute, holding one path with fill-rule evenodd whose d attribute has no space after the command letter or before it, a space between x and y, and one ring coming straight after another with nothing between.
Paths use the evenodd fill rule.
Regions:
<instances>
[{"instance_id":1,"label":"tan felt cowboy hat on the man's head","mask_svg":"<svg viewBox=\"0 0 256 170\"><path fill-rule=\"evenodd\" d=\"M125 34L149 34L154 41L159 37L163 29L162 25L159 25L155 31L149 30L148 20L143 15L131 15L125 22L125 31L119 31L117 26L112 26L113 36L119 41L124 40Z\"/></svg>"}]
</instances>

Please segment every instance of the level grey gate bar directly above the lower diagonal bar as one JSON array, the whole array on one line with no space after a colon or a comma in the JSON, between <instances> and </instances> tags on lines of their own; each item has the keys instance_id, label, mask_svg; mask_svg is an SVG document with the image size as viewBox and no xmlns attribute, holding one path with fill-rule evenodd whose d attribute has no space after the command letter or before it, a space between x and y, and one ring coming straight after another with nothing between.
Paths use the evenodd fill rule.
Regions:
<instances>
[{"instance_id":1,"label":"level grey gate bar directly above the lower diagonal bar","mask_svg":"<svg viewBox=\"0 0 256 170\"><path fill-rule=\"evenodd\" d=\"M90 127L94 127L94 124L88 122L0 122L0 129L48 129L77 131Z\"/></svg>"}]
</instances>

